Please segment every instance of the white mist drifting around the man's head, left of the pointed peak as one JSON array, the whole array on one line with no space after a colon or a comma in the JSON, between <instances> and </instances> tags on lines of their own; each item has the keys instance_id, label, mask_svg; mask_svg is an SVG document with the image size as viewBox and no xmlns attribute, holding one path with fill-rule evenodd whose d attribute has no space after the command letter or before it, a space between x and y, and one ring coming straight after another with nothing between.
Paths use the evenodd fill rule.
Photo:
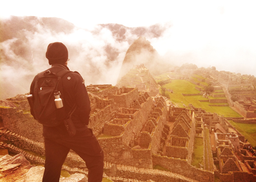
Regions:
<instances>
[{"instance_id":1,"label":"white mist drifting around the man's head, left of the pointed peak","mask_svg":"<svg viewBox=\"0 0 256 182\"><path fill-rule=\"evenodd\" d=\"M13 32L9 39L0 43L0 82L5 89L0 94L1 99L29 92L34 76L50 67L45 52L52 42L66 45L70 59L68 66L71 71L81 73L86 85L115 85L129 48L128 39L137 39L137 36L128 36L118 41L108 28L102 26L95 26L93 30L73 27L66 32L53 29L42 18L34 17L25 28Z\"/></svg>"}]
</instances>

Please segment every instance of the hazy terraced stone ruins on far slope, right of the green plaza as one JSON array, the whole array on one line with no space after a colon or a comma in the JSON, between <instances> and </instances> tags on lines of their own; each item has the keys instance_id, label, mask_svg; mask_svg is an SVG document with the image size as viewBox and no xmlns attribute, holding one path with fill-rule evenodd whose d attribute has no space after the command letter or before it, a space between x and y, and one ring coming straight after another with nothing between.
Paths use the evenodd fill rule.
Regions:
<instances>
[{"instance_id":1,"label":"hazy terraced stone ruins on far slope, right of the green plaza","mask_svg":"<svg viewBox=\"0 0 256 182\"><path fill-rule=\"evenodd\" d=\"M219 72L205 68L198 69L195 74L207 77L206 82L208 84L211 83L214 86L214 90L216 90L212 94L213 97L226 97L227 101L225 102L229 106L234 106L243 117L256 118L256 113L254 113L254 110L256 110L256 91L254 88L256 78L254 76L241 76L240 73ZM200 90L200 88L197 89ZM219 94L217 90L222 89L224 93ZM234 100L234 97L236 100Z\"/></svg>"}]
</instances>

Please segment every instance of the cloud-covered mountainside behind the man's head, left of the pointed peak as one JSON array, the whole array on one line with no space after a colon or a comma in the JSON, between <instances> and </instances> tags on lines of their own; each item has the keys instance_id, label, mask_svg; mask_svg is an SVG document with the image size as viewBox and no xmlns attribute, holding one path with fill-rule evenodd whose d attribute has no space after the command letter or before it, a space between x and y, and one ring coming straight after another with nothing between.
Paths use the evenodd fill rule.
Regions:
<instances>
[{"instance_id":1,"label":"cloud-covered mountainside behind the man's head, left of the pointed peak","mask_svg":"<svg viewBox=\"0 0 256 182\"><path fill-rule=\"evenodd\" d=\"M85 19L86 21L86 19ZM98 24L92 29L74 26L60 18L11 16L0 21L0 99L29 92L37 73L49 68L49 43L62 42L69 50L69 66L85 84L115 85L129 46L139 38L159 38L167 27L125 27Z\"/></svg>"}]
</instances>

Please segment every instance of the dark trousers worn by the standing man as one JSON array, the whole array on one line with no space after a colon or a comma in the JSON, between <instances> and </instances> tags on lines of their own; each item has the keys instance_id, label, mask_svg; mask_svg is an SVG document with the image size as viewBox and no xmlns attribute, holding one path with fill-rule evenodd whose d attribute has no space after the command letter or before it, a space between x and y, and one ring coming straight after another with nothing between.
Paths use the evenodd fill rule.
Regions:
<instances>
[{"instance_id":1,"label":"dark trousers worn by the standing man","mask_svg":"<svg viewBox=\"0 0 256 182\"><path fill-rule=\"evenodd\" d=\"M70 148L85 160L88 182L101 182L103 175L103 151L91 129L74 137L45 138L45 172L43 182L59 181L62 164Z\"/></svg>"}]
</instances>

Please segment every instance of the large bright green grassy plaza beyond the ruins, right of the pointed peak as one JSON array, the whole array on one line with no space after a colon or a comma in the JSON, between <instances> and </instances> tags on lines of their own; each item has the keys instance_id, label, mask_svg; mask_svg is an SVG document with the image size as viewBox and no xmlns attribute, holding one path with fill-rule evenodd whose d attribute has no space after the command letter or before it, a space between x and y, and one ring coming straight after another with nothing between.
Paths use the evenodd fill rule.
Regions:
<instances>
[{"instance_id":1,"label":"large bright green grassy plaza beyond the ruins, right of the pointed peak","mask_svg":"<svg viewBox=\"0 0 256 182\"><path fill-rule=\"evenodd\" d=\"M185 94L194 94L200 93L197 89L195 89L195 85L186 80L172 80L169 84L164 85L166 89L172 89L174 92L169 94L171 101L175 102L179 107L184 107L183 104L189 106L189 104L193 104L194 107L201 107L205 109L207 112L217 113L219 115L224 115L224 117L241 117L237 112L231 109L229 106L209 106L210 105L221 105L227 103L210 103L210 102L200 102L199 100L207 100L207 98L203 98L200 96L183 96L182 93ZM211 99L218 99L218 97L209 97ZM219 97L224 98L225 97Z\"/></svg>"}]
</instances>

